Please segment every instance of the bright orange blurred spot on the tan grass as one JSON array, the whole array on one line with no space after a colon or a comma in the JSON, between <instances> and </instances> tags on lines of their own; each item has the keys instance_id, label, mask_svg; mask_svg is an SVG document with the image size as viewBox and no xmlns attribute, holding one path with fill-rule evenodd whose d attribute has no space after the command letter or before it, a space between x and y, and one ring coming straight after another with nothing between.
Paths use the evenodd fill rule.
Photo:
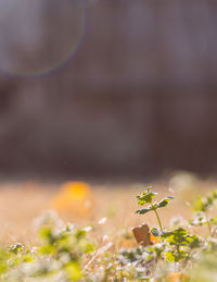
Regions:
<instances>
[{"instance_id":1,"label":"bright orange blurred spot on the tan grass","mask_svg":"<svg viewBox=\"0 0 217 282\"><path fill-rule=\"evenodd\" d=\"M91 187L85 182L67 182L51 201L51 207L65 213L87 216L91 210Z\"/></svg>"}]
</instances>

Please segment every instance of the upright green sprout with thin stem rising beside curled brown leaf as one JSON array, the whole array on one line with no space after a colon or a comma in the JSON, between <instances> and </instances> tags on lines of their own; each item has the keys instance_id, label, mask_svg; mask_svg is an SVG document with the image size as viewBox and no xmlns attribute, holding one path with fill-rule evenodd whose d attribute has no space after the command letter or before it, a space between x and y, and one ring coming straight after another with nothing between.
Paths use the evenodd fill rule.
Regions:
<instances>
[{"instance_id":1,"label":"upright green sprout with thin stem rising beside curled brown leaf","mask_svg":"<svg viewBox=\"0 0 217 282\"><path fill-rule=\"evenodd\" d=\"M156 219L157 219L157 222L158 222L158 225L159 225L159 230L161 230L161 234L163 234L164 231L163 231L163 226L162 226L162 222L161 222L157 209L166 207L169 204L169 200L173 199L174 197L168 196L168 197L165 197L165 198L161 199L159 201L153 203L153 198L156 195L157 195L157 193L152 192L152 186L150 186L150 187L148 187L148 189L145 192L143 192L141 195L137 196L138 205L139 206L145 206L145 207L143 207L141 209L138 209L136 211L136 213L145 214L150 211L153 211L156 216ZM159 232L157 231L157 229L152 229L151 233L154 236L161 235Z\"/></svg>"}]
</instances>

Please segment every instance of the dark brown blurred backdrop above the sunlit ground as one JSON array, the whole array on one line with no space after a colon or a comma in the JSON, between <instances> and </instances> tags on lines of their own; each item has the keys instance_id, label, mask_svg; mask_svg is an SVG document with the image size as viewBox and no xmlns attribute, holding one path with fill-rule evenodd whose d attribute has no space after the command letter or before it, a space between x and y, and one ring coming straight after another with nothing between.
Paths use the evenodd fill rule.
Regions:
<instances>
[{"instance_id":1,"label":"dark brown blurred backdrop above the sunlit ground","mask_svg":"<svg viewBox=\"0 0 217 282\"><path fill-rule=\"evenodd\" d=\"M0 0L0 176L217 172L217 2Z\"/></svg>"}]
</instances>

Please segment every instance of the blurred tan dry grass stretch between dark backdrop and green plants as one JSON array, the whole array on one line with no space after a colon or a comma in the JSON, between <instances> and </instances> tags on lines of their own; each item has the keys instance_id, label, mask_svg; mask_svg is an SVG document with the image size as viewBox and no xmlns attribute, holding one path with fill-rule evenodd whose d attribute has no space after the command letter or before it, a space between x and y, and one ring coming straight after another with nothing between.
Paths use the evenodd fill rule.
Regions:
<instances>
[{"instance_id":1,"label":"blurred tan dry grass stretch between dark backdrop and green plants","mask_svg":"<svg viewBox=\"0 0 217 282\"><path fill-rule=\"evenodd\" d=\"M212 185L205 184L209 188L215 186ZM165 185L158 184L156 187L159 196L173 195ZM61 197L61 188L63 189L62 185L58 184L48 185L34 182L1 184L1 245L15 242L35 244L37 236L36 230L33 228L33 220L39 217L42 211L55 206L53 203L55 201L56 204L56 197ZM59 209L59 212L65 221L75 222L81 226L92 225L94 236L99 242L103 235L107 235L113 243L115 242L116 247L131 246L136 244L133 240L129 240L131 228L142 222L146 222L149 225L157 224L152 214L135 214L137 209L136 195L142 192L143 188L144 186L142 187L142 185L94 185L90 188L91 193L88 192L88 200L91 201L91 209L88 212L77 212L76 209L71 208L68 210ZM84 197L85 199L87 199L86 196ZM168 225L170 218L175 216L181 214L183 218L189 218L191 208L186 201L191 201L191 198L195 197L192 192L187 192L186 195L182 193L181 197L176 193L173 196L175 196L175 200L171 201L171 205L159 212L164 225ZM67 199L67 195L64 195L64 197ZM79 203L78 207L82 207L82 205ZM99 224L102 218L107 220L104 224ZM127 234L126 230L129 230L129 234ZM122 240L119 236L123 232L126 233L125 241L123 241L123 236Z\"/></svg>"}]
</instances>

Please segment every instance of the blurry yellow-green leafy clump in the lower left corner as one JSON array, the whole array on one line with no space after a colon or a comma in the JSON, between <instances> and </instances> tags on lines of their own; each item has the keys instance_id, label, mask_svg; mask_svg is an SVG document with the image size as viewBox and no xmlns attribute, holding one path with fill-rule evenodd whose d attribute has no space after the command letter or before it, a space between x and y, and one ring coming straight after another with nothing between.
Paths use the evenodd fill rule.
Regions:
<instances>
[{"instance_id":1,"label":"blurry yellow-green leafy clump in the lower left corner","mask_svg":"<svg viewBox=\"0 0 217 282\"><path fill-rule=\"evenodd\" d=\"M80 281L85 277L84 259L94 250L94 244L87 238L85 229L72 224L58 228L51 213L39 231L40 244L26 249L15 244L0 249L0 281ZM43 217L43 220L44 220Z\"/></svg>"}]
</instances>

